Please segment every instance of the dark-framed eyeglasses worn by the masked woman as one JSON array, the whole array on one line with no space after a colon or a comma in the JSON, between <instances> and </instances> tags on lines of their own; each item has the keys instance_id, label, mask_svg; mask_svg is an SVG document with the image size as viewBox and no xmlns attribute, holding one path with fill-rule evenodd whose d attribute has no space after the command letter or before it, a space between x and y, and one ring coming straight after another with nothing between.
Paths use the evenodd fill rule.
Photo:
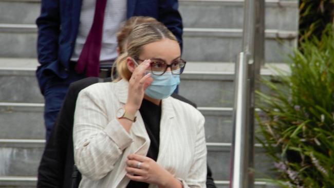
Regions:
<instances>
[{"instance_id":1,"label":"dark-framed eyeglasses worn by the masked woman","mask_svg":"<svg viewBox=\"0 0 334 188\"><path fill-rule=\"evenodd\" d=\"M140 60L139 61L145 61L145 60ZM162 75L163 73L166 72L168 67L171 67L172 74L181 74L184 70L185 67L185 62L184 60L177 60L171 63L170 65L159 61L159 60L151 60L151 72L155 75Z\"/></svg>"}]
</instances>

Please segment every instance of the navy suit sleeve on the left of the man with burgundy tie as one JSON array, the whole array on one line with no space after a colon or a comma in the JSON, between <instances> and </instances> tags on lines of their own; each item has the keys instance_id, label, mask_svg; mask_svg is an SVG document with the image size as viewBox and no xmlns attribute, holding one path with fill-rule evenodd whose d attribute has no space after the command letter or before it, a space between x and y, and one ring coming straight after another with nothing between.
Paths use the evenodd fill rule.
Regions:
<instances>
[{"instance_id":1,"label":"navy suit sleeve on the left of the man with burgundy tie","mask_svg":"<svg viewBox=\"0 0 334 188\"><path fill-rule=\"evenodd\" d=\"M38 26L37 52L42 65L57 61L60 33L60 0L42 0Z\"/></svg>"}]
</instances>

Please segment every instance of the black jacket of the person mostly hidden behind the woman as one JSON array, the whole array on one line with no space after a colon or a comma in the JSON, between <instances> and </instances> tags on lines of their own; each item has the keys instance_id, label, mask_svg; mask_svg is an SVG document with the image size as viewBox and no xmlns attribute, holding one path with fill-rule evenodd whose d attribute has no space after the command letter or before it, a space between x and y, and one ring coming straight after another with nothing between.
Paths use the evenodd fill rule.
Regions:
<instances>
[{"instance_id":1,"label":"black jacket of the person mostly hidden behind the woman","mask_svg":"<svg viewBox=\"0 0 334 188\"><path fill-rule=\"evenodd\" d=\"M100 79L100 82L108 81L110 81L110 78L104 80ZM81 176L78 171L73 171L74 158L72 141L76 99L82 89L97 82L99 82L99 78L91 77L70 84L57 122L55 123L54 129L51 131L50 139L46 144L41 159L38 169L37 187L75 188L78 186ZM172 97L196 107L195 103L175 93ZM75 173L72 174L72 172ZM209 166L206 184L208 188L216 187Z\"/></svg>"}]
</instances>

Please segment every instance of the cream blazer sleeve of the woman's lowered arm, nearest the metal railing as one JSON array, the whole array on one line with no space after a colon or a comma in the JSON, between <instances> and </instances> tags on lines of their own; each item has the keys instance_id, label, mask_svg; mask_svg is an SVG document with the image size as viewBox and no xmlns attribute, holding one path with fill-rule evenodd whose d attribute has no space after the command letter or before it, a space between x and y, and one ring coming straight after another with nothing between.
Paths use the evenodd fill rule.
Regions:
<instances>
[{"instance_id":1,"label":"cream blazer sleeve of the woman's lowered arm, nearest the metal railing","mask_svg":"<svg viewBox=\"0 0 334 188\"><path fill-rule=\"evenodd\" d=\"M205 140L205 118L200 114L197 122L197 134L195 143L194 161L187 179L179 179L183 188L206 187L207 180L207 145Z\"/></svg>"}]
</instances>

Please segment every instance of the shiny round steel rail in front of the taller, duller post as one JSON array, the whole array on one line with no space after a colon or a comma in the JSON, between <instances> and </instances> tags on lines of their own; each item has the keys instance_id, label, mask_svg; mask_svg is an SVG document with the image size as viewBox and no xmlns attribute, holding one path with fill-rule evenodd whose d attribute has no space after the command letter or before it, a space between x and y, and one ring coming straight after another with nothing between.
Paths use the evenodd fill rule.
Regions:
<instances>
[{"instance_id":1,"label":"shiny round steel rail in front of the taller, duller post","mask_svg":"<svg viewBox=\"0 0 334 188\"><path fill-rule=\"evenodd\" d=\"M244 52L237 57L235 71L235 98L233 108L233 142L231 151L230 188L248 188L248 61Z\"/></svg>"}]
</instances>

